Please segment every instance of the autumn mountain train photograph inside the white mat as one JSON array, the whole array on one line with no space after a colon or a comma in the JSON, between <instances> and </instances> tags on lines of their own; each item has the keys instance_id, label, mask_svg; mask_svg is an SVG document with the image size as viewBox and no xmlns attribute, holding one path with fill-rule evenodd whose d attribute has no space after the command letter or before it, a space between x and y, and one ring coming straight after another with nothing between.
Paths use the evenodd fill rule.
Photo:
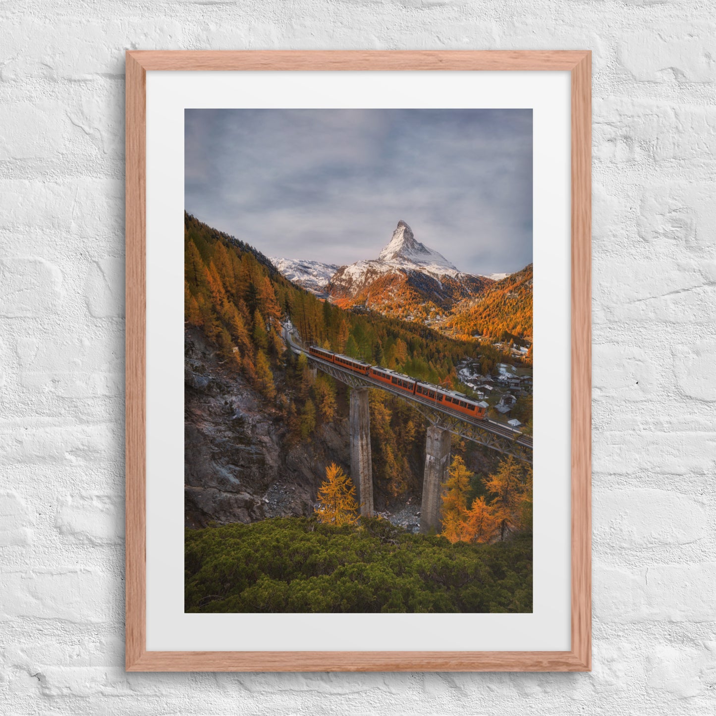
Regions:
<instances>
[{"instance_id":1,"label":"autumn mountain train photograph inside the white mat","mask_svg":"<svg viewBox=\"0 0 716 716\"><path fill-rule=\"evenodd\" d=\"M185 110L185 612L533 611L532 196L532 110Z\"/></svg>"}]
</instances>

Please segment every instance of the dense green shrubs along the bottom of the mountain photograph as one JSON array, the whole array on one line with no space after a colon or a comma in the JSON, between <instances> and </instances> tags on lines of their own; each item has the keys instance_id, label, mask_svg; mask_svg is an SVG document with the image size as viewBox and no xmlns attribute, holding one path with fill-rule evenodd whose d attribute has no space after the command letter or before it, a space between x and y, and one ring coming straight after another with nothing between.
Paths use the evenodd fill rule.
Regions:
<instances>
[{"instance_id":1,"label":"dense green shrubs along the bottom of the mountain photograph","mask_svg":"<svg viewBox=\"0 0 716 716\"><path fill-rule=\"evenodd\" d=\"M531 612L531 536L450 544L380 518L188 530L188 612Z\"/></svg>"}]
</instances>

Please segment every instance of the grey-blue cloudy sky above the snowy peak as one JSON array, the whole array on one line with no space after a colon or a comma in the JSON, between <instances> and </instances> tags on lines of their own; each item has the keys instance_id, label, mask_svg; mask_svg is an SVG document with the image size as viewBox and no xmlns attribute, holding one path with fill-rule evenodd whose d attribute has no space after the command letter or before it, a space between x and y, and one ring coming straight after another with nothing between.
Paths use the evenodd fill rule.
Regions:
<instances>
[{"instance_id":1,"label":"grey-blue cloudy sky above the snowy peak","mask_svg":"<svg viewBox=\"0 0 716 716\"><path fill-rule=\"evenodd\" d=\"M185 208L267 256L377 258L402 219L462 271L517 271L532 111L185 110Z\"/></svg>"}]
</instances>

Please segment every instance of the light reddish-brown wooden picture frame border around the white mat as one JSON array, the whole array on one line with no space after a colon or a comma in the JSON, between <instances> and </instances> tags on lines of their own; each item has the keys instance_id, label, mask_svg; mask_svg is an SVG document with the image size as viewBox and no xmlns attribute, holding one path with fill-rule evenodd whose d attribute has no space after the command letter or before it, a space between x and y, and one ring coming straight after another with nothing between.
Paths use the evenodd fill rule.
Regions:
<instances>
[{"instance_id":1,"label":"light reddish-brown wooden picture frame border around the white mat","mask_svg":"<svg viewBox=\"0 0 716 716\"><path fill-rule=\"evenodd\" d=\"M571 649L563 652L157 652L146 611L146 74L153 71L463 70L571 73ZM126 53L127 671L589 671L591 669L591 52Z\"/></svg>"}]
</instances>

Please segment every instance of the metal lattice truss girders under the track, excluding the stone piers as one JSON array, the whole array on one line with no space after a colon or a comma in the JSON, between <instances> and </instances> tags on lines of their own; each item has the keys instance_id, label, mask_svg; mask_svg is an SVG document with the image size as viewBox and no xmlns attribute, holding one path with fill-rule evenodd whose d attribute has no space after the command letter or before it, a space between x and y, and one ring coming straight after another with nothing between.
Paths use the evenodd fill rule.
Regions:
<instances>
[{"instance_id":1,"label":"metal lattice truss girders under the track, excluding the stone piers","mask_svg":"<svg viewBox=\"0 0 716 716\"><path fill-rule=\"evenodd\" d=\"M364 379L355 373L343 370L329 363L324 363L323 361L315 360L311 358L310 355L308 358L309 364L311 364L311 366L322 370L324 373L348 385L349 387L376 387L373 382ZM410 405L412 405L412 407L414 407L417 412L420 412L420 415L425 417L427 422L430 422L430 425L435 425L435 427L439 427L441 430L448 430L448 432L452 432L453 435L464 437L465 440L477 442L478 445L483 445L483 447L489 448L490 450L497 450L498 453L503 453L504 455L512 455L513 458L523 460L526 463L531 463L532 461L532 448L528 445L522 445L520 442L518 442L518 435L516 435L516 437L499 435L498 433L492 432L491 430L487 430L481 425L475 425L472 422L460 420L460 417L458 417L457 415L448 415L447 413L442 412L442 410L437 410L435 408L430 407L429 405L425 405L425 403L419 402L417 400L408 400L407 397L395 390L390 390L390 388L384 387L383 390L386 390L392 395L402 398L402 400L405 400L406 402L410 403Z\"/></svg>"}]
</instances>

